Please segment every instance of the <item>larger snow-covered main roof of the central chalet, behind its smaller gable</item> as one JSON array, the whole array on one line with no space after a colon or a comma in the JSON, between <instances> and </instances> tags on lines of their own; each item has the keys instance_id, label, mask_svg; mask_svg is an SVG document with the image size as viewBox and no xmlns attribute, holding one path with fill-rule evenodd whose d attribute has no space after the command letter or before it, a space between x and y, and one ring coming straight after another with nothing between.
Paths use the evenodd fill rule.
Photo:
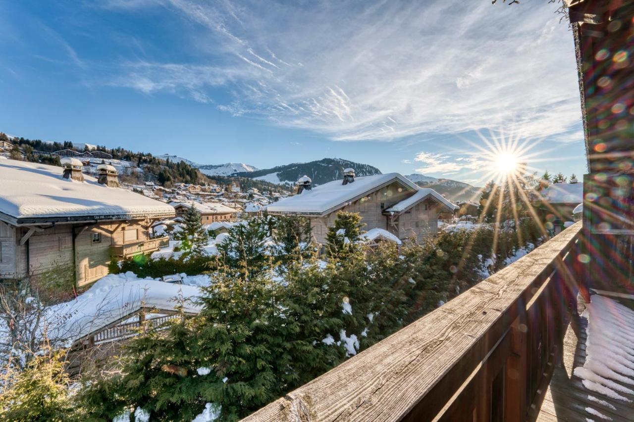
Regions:
<instances>
[{"instance_id":1,"label":"larger snow-covered main roof of the central chalet, behind its smaller gable","mask_svg":"<svg viewBox=\"0 0 634 422\"><path fill-rule=\"evenodd\" d=\"M353 183L348 184L342 184L342 180L328 182L267 205L266 210L269 214L325 215L394 181L399 181L413 191L419 189L398 173L376 174L356 177Z\"/></svg>"}]
</instances>

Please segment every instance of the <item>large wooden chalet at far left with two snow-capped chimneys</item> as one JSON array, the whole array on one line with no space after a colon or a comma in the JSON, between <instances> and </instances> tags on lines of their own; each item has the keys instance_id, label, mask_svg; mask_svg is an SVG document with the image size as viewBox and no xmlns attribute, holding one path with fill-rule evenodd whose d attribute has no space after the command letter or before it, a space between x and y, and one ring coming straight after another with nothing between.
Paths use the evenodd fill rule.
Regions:
<instances>
[{"instance_id":1,"label":"large wooden chalet at far left with two snow-capped chimneys","mask_svg":"<svg viewBox=\"0 0 634 422\"><path fill-rule=\"evenodd\" d=\"M63 168L0 160L0 278L55 272L81 287L105 276L112 257L169 241L150 238L148 228L174 208L116 187L112 166L100 166L96 179L76 158L62 160Z\"/></svg>"}]
</instances>

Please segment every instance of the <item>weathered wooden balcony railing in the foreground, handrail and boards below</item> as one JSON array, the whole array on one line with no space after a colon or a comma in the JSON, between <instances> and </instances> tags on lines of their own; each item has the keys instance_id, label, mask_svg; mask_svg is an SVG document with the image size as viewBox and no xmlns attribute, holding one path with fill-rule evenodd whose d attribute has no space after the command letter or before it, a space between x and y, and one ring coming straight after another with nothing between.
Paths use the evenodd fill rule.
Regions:
<instances>
[{"instance_id":1,"label":"weathered wooden balcony railing in the foreground, handrail and boards below","mask_svg":"<svg viewBox=\"0 0 634 422\"><path fill-rule=\"evenodd\" d=\"M580 229L245 420L534 420L576 312Z\"/></svg>"}]
</instances>

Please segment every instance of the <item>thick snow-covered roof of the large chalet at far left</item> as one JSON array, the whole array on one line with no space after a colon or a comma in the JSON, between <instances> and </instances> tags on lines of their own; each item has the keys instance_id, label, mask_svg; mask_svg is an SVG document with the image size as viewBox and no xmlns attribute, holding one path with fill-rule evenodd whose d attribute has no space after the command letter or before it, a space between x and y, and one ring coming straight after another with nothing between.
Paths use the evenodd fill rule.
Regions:
<instances>
[{"instance_id":1,"label":"thick snow-covered roof of the large chalet at far left","mask_svg":"<svg viewBox=\"0 0 634 422\"><path fill-rule=\"evenodd\" d=\"M64 179L54 165L0 162L0 219L11 224L169 217L174 208L122 188L108 188L84 175Z\"/></svg>"}]
</instances>

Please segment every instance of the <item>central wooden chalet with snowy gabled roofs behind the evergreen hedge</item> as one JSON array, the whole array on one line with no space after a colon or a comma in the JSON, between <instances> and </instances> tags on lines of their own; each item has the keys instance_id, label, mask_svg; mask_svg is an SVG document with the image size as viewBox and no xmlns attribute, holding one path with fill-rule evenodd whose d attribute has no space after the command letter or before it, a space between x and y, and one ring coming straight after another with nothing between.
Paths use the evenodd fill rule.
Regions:
<instances>
[{"instance_id":1,"label":"central wooden chalet with snowy gabled roofs behind the evergreen hedge","mask_svg":"<svg viewBox=\"0 0 634 422\"><path fill-rule=\"evenodd\" d=\"M312 187L311 179L298 181L298 194L266 207L272 215L302 215L311 221L318 243L326 242L338 212L356 212L364 229L384 229L399 239L415 236L422 240L437 232L441 210L456 208L434 189L420 188L398 173L354 177L346 169L344 179Z\"/></svg>"}]
</instances>

